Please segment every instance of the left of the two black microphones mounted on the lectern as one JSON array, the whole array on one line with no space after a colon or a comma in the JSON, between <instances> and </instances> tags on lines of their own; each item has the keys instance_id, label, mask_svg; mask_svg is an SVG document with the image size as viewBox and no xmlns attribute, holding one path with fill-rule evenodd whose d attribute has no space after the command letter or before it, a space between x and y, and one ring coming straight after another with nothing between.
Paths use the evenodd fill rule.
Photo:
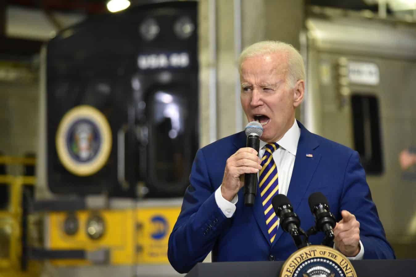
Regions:
<instances>
[{"instance_id":1,"label":"left of the two black microphones mounted on the lectern","mask_svg":"<svg viewBox=\"0 0 416 277\"><path fill-rule=\"evenodd\" d=\"M300 219L293 212L290 200L283 194L277 194L272 199L272 206L276 216L280 218L280 226L292 236L297 249L310 245L306 233L300 228ZM302 235L305 240L302 240Z\"/></svg>"}]
</instances>

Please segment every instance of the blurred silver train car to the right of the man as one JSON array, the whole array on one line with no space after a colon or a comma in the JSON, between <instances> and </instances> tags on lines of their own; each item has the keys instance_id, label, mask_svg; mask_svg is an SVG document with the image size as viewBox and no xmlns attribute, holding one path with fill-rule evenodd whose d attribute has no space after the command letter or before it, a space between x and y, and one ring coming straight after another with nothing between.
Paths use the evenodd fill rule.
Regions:
<instances>
[{"instance_id":1,"label":"blurred silver train car to the right of the man","mask_svg":"<svg viewBox=\"0 0 416 277\"><path fill-rule=\"evenodd\" d=\"M311 9L302 121L359 152L388 240L415 257L416 174L399 155L416 145L416 24L363 15Z\"/></svg>"}]
</instances>

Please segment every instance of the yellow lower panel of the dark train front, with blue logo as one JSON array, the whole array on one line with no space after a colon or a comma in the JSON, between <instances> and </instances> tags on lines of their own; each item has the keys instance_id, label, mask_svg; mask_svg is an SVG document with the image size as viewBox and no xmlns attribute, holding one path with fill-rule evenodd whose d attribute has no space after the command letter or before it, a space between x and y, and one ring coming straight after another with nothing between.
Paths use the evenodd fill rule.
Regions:
<instances>
[{"instance_id":1,"label":"yellow lower panel of the dark train front, with blue logo","mask_svg":"<svg viewBox=\"0 0 416 277\"><path fill-rule=\"evenodd\" d=\"M149 206L119 210L76 211L79 222L73 235L64 232L67 212L49 212L50 250L97 251L108 249L110 265L168 264L168 238L178 218L180 206ZM87 234L91 215L99 215L105 223L105 233L99 239ZM54 265L91 265L87 260L53 260Z\"/></svg>"}]
</instances>

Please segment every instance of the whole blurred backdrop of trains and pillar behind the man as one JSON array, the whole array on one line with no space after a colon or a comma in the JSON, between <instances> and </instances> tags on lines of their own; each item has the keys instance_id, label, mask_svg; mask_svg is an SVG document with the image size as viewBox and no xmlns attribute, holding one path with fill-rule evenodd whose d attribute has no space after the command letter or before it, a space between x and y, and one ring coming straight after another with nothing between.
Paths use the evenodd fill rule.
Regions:
<instances>
[{"instance_id":1,"label":"whole blurred backdrop of trains and pillar behind the man","mask_svg":"<svg viewBox=\"0 0 416 277\"><path fill-rule=\"evenodd\" d=\"M0 277L179 276L193 158L243 130L238 56L265 39L300 50L297 119L359 152L415 259L416 0L1 0Z\"/></svg>"}]
</instances>

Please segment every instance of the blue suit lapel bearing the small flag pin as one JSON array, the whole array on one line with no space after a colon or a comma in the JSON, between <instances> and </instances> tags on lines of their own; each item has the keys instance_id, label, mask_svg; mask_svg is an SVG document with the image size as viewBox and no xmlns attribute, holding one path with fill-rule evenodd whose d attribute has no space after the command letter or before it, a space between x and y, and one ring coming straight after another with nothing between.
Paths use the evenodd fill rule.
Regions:
<instances>
[{"instance_id":1,"label":"blue suit lapel bearing the small flag pin","mask_svg":"<svg viewBox=\"0 0 416 277\"><path fill-rule=\"evenodd\" d=\"M297 145L292 177L290 178L289 190L287 191L287 198L292 203L295 212L302 198L305 196L305 192L321 159L321 155L314 151L319 144L312 136L312 133L306 130L299 121L297 124L300 127L300 138ZM313 157L307 157L307 154L312 154ZM283 232L279 225L273 245L279 240Z\"/></svg>"}]
</instances>

